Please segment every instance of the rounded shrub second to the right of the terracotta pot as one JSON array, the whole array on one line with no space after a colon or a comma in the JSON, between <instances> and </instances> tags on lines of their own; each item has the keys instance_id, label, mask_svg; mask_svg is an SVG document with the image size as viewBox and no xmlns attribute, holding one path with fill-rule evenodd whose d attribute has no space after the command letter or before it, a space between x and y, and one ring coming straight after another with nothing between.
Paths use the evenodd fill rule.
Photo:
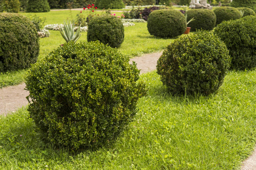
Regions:
<instances>
[{"instance_id":1,"label":"rounded shrub second to the right of the terracotta pot","mask_svg":"<svg viewBox=\"0 0 256 170\"><path fill-rule=\"evenodd\" d=\"M224 20L235 20L241 18L241 12L234 7L218 7L213 11L216 15L216 24Z\"/></svg>"}]
</instances>

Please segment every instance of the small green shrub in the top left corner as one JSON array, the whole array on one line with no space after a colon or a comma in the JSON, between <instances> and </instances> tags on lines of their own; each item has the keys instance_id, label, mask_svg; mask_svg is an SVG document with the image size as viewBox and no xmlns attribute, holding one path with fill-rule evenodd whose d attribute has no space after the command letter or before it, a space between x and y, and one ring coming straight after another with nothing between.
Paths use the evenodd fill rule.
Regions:
<instances>
[{"instance_id":1,"label":"small green shrub in the top left corner","mask_svg":"<svg viewBox=\"0 0 256 170\"><path fill-rule=\"evenodd\" d=\"M0 12L19 12L19 0L1 0L0 1Z\"/></svg>"}]
</instances>

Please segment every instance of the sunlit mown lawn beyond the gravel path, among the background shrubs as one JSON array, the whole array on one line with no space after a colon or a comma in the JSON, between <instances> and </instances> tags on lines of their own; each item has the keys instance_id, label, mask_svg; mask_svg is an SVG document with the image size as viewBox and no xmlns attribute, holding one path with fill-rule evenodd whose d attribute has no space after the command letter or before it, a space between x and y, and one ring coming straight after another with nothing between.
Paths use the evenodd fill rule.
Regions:
<instances>
[{"instance_id":1,"label":"sunlit mown lawn beyond the gravel path, among the background shrubs","mask_svg":"<svg viewBox=\"0 0 256 170\"><path fill-rule=\"evenodd\" d=\"M84 11L83 11L84 12ZM97 11L96 14L102 14L102 11ZM88 12L84 12L87 15ZM122 12L114 12L120 16ZM75 19L76 14L80 11L50 11L42 13L25 13L22 15L34 15L46 18L46 24L61 24L64 20ZM65 40L60 35L59 31L49 30L50 36L40 39L40 53L38 59L44 58L53 49L56 49L60 44L64 44ZM82 32L81 37L77 42L87 41L87 33ZM166 48L174 39L159 39L151 36L147 31L147 23L135 23L134 26L125 27L125 40L118 48L119 52L128 57L141 56L142 54L158 52ZM11 76L10 76L11 75ZM8 74L0 74L0 88L13 86L23 82L26 70L10 71Z\"/></svg>"}]
</instances>

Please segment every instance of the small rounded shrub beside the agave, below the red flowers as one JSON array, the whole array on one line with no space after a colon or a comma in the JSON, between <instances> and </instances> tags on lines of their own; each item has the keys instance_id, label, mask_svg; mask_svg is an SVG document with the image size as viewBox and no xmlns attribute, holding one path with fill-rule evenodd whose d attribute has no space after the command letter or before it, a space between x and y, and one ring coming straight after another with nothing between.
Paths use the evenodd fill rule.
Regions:
<instances>
[{"instance_id":1,"label":"small rounded shrub beside the agave, below the red flowers","mask_svg":"<svg viewBox=\"0 0 256 170\"><path fill-rule=\"evenodd\" d=\"M125 38L125 29L121 19L112 15L93 17L88 23L87 41L101 41L118 48Z\"/></svg>"}]
</instances>

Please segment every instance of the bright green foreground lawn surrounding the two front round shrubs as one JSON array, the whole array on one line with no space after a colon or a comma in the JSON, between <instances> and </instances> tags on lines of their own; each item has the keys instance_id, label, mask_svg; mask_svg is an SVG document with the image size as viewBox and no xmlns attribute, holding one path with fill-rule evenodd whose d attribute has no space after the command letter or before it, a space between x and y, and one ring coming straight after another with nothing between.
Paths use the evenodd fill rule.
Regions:
<instances>
[{"instance_id":1,"label":"bright green foreground lawn surrounding the two front round shrubs","mask_svg":"<svg viewBox=\"0 0 256 170\"><path fill-rule=\"evenodd\" d=\"M26 108L0 117L1 169L239 169L255 145L256 71L229 71L210 96L172 96L156 71L112 147L70 152L45 144ZM20 136L22 135L22 136Z\"/></svg>"}]
</instances>

